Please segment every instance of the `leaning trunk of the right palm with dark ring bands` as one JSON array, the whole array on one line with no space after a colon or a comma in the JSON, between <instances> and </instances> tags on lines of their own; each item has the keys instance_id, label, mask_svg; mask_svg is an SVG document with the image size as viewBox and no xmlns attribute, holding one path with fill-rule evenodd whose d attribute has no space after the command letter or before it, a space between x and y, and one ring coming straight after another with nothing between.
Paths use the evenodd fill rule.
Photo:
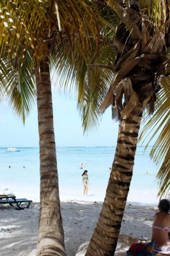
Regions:
<instances>
[{"instance_id":1,"label":"leaning trunk of the right palm with dark ring bands","mask_svg":"<svg viewBox=\"0 0 170 256\"><path fill-rule=\"evenodd\" d=\"M143 114L139 104L127 118L121 118L112 171L97 227L86 256L114 255L127 195L132 179L137 137Z\"/></svg>"}]
</instances>

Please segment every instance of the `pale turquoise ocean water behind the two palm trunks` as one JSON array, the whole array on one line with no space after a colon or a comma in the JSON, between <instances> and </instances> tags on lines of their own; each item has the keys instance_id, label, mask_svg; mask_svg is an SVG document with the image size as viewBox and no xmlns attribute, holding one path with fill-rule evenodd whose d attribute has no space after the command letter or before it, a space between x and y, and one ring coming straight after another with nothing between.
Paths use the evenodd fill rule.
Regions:
<instances>
[{"instance_id":1,"label":"pale turquoise ocean water behind the two palm trunks","mask_svg":"<svg viewBox=\"0 0 170 256\"><path fill-rule=\"evenodd\" d=\"M0 148L0 194L8 188L17 197L40 201L39 148ZM104 201L116 147L57 147L59 196L61 201ZM150 159L151 148L137 147L128 202L158 204L157 168ZM81 163L86 164L81 169ZM10 166L10 168L9 168ZM88 170L89 193L83 196L82 172Z\"/></svg>"}]
</instances>

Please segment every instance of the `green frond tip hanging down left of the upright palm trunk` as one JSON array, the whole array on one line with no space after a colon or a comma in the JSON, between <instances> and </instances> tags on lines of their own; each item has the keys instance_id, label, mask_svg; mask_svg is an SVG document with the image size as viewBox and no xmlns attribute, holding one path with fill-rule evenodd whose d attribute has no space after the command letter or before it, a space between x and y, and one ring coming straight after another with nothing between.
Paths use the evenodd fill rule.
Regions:
<instances>
[{"instance_id":1,"label":"green frond tip hanging down left of the upright palm trunk","mask_svg":"<svg viewBox=\"0 0 170 256\"><path fill-rule=\"evenodd\" d=\"M33 102L35 102L35 77L33 73L33 60L29 52L25 58L18 59L15 63L4 58L0 64L0 83L4 97L12 104L14 112L25 122L26 115L29 113Z\"/></svg>"}]
</instances>

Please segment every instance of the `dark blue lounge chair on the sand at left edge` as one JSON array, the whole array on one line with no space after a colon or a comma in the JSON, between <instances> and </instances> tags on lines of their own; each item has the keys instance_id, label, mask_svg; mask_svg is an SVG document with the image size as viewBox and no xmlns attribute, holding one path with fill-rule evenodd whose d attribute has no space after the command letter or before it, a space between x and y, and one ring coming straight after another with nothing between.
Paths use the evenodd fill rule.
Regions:
<instances>
[{"instance_id":1,"label":"dark blue lounge chair on the sand at left edge","mask_svg":"<svg viewBox=\"0 0 170 256\"><path fill-rule=\"evenodd\" d=\"M26 198L17 199L16 196L0 195L0 204L10 204L11 206L15 205L16 210L23 210L24 208L29 208L31 202L32 200L27 200ZM21 207L20 204L22 203L27 203L27 205Z\"/></svg>"}]
</instances>

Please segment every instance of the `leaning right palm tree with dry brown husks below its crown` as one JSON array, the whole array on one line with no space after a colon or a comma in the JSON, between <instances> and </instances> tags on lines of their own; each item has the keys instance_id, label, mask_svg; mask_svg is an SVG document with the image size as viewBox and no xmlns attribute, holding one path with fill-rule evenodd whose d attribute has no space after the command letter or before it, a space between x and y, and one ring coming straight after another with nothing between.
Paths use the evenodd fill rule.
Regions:
<instances>
[{"instance_id":1,"label":"leaning right palm tree with dry brown husks below its crown","mask_svg":"<svg viewBox=\"0 0 170 256\"><path fill-rule=\"evenodd\" d=\"M101 2L101 1L100 1ZM104 1L102 1L104 2ZM135 150L144 109L153 113L162 76L166 75L169 40L169 4L144 1L105 1L120 16L112 39L118 56L112 66L116 73L99 113L112 106L112 116L120 120L116 153L102 212L86 255L114 255L121 221L132 179ZM155 12L157 10L157 12ZM161 13L153 17L154 13ZM89 67L100 67L93 63ZM89 83L90 86L90 83ZM97 96L89 88L89 96ZM93 108L86 100L83 113L87 125ZM100 101L99 99L98 101ZM94 108L93 108L94 111Z\"/></svg>"}]
</instances>

